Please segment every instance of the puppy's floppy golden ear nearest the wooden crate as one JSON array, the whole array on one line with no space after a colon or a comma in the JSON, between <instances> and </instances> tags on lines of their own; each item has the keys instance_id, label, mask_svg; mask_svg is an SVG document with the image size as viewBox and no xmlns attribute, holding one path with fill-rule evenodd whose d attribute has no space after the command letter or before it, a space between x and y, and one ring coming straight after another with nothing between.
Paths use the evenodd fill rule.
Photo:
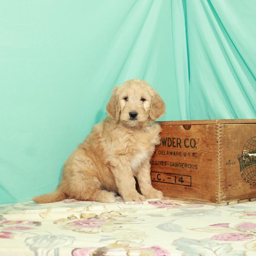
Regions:
<instances>
[{"instance_id":1,"label":"puppy's floppy golden ear nearest the wooden crate","mask_svg":"<svg viewBox=\"0 0 256 256\"><path fill-rule=\"evenodd\" d=\"M149 117L152 121L155 121L165 113L165 103L160 98L156 90L151 91L151 106L149 110Z\"/></svg>"}]
</instances>

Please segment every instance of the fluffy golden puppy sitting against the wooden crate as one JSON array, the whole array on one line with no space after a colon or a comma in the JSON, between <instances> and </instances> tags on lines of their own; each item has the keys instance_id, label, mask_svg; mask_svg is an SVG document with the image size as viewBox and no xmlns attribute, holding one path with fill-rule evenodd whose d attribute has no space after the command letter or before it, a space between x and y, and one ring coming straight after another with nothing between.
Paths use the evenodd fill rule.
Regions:
<instances>
[{"instance_id":1,"label":"fluffy golden puppy sitting against the wooden crate","mask_svg":"<svg viewBox=\"0 0 256 256\"><path fill-rule=\"evenodd\" d=\"M118 192L124 201L163 198L151 185L149 160L159 143L160 125L154 121L165 113L157 91L134 79L116 86L107 105L108 117L95 125L64 164L55 192L33 198L51 203L65 198L114 202ZM135 179L140 195L135 189Z\"/></svg>"}]
</instances>

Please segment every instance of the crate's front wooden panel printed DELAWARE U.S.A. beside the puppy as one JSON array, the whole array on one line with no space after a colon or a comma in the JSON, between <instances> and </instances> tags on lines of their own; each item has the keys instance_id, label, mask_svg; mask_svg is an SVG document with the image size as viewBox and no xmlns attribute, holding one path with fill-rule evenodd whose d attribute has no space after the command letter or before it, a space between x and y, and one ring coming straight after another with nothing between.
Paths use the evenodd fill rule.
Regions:
<instances>
[{"instance_id":1,"label":"crate's front wooden panel printed DELAWARE U.S.A. beside the puppy","mask_svg":"<svg viewBox=\"0 0 256 256\"><path fill-rule=\"evenodd\" d=\"M151 159L152 185L166 196L215 203L215 125L162 125L160 136Z\"/></svg>"}]
</instances>

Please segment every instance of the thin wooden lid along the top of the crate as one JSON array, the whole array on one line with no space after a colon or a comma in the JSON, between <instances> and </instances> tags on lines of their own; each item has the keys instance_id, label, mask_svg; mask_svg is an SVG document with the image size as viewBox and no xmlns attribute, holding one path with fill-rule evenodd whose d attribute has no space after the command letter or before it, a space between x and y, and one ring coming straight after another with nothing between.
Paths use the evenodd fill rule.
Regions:
<instances>
[{"instance_id":1,"label":"thin wooden lid along the top of the crate","mask_svg":"<svg viewBox=\"0 0 256 256\"><path fill-rule=\"evenodd\" d=\"M160 125L217 125L217 124L256 124L256 119L211 119L188 121L160 121Z\"/></svg>"}]
</instances>

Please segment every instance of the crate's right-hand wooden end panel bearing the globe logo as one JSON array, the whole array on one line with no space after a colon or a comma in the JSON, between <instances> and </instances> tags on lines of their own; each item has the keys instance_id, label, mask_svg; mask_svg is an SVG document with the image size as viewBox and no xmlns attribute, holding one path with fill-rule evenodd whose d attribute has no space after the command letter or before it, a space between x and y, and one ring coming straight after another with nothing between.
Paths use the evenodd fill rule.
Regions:
<instances>
[{"instance_id":1,"label":"crate's right-hand wooden end panel bearing the globe logo","mask_svg":"<svg viewBox=\"0 0 256 256\"><path fill-rule=\"evenodd\" d=\"M222 125L222 147L222 200L255 198L256 124Z\"/></svg>"}]
</instances>

